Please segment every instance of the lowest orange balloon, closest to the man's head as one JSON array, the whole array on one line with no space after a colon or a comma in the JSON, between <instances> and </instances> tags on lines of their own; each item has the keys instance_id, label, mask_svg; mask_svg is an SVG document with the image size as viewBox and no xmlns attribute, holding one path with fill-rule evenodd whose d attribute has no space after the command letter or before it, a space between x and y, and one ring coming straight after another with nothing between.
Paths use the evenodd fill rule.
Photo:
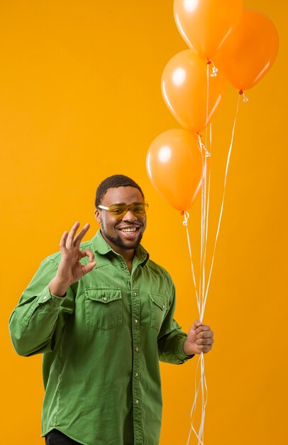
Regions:
<instances>
[{"instance_id":1,"label":"lowest orange balloon, closest to the man's head","mask_svg":"<svg viewBox=\"0 0 288 445\"><path fill-rule=\"evenodd\" d=\"M162 198L176 210L191 207L202 182L202 155L196 134L183 129L160 134L150 145L146 166Z\"/></svg>"}]
</instances>

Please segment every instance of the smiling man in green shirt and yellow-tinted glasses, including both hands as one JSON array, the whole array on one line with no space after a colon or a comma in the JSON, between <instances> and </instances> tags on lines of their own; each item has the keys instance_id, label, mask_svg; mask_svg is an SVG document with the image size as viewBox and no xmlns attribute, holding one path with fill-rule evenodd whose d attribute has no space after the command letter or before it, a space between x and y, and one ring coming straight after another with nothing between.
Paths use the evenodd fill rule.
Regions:
<instances>
[{"instance_id":1,"label":"smiling man in green shirt and yellow-tinted glasses, including both hands","mask_svg":"<svg viewBox=\"0 0 288 445\"><path fill-rule=\"evenodd\" d=\"M101 230L82 244L88 224L63 234L13 311L11 338L21 355L44 354L47 445L157 445L159 360L206 353L213 333L195 321L187 336L173 319L172 279L140 245L148 205L138 184L106 178L95 206Z\"/></svg>"}]
</instances>

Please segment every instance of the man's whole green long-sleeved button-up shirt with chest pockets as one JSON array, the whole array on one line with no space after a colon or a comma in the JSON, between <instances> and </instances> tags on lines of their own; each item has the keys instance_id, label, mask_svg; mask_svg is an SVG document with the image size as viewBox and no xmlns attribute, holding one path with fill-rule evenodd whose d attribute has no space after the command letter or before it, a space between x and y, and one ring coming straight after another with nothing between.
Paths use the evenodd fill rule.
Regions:
<instances>
[{"instance_id":1,"label":"man's whole green long-sleeved button-up shirt with chest pockets","mask_svg":"<svg viewBox=\"0 0 288 445\"><path fill-rule=\"evenodd\" d=\"M84 445L157 445L159 360L189 358L173 319L175 286L142 246L131 273L100 231L81 248L95 254L92 272L54 296L61 255L52 254L10 318L17 353L44 353L43 435L56 428Z\"/></svg>"}]
</instances>

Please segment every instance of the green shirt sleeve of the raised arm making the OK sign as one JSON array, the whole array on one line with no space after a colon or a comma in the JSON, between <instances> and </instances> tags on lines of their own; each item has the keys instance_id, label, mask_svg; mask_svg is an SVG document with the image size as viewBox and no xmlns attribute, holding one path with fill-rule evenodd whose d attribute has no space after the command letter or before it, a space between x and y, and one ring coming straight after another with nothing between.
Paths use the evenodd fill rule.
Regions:
<instances>
[{"instance_id":1,"label":"green shirt sleeve of the raised arm making the OK sign","mask_svg":"<svg viewBox=\"0 0 288 445\"><path fill-rule=\"evenodd\" d=\"M74 311L71 288L67 289L65 297L55 296L48 289L57 267L55 260L45 259L11 313L9 330L19 355L54 350L65 326L65 317Z\"/></svg>"}]
</instances>

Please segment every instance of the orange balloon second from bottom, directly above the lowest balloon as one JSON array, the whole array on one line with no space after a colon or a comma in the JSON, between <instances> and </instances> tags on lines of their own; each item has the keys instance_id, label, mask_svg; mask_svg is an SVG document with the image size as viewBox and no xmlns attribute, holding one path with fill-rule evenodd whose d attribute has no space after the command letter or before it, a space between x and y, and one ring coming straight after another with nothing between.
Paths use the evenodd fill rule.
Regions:
<instances>
[{"instance_id":1,"label":"orange balloon second from bottom, directly above the lowest balloon","mask_svg":"<svg viewBox=\"0 0 288 445\"><path fill-rule=\"evenodd\" d=\"M206 60L184 50L165 66L162 74L162 95L167 107L185 129L199 133L211 121L226 90L223 73L209 79L207 112Z\"/></svg>"}]
</instances>

